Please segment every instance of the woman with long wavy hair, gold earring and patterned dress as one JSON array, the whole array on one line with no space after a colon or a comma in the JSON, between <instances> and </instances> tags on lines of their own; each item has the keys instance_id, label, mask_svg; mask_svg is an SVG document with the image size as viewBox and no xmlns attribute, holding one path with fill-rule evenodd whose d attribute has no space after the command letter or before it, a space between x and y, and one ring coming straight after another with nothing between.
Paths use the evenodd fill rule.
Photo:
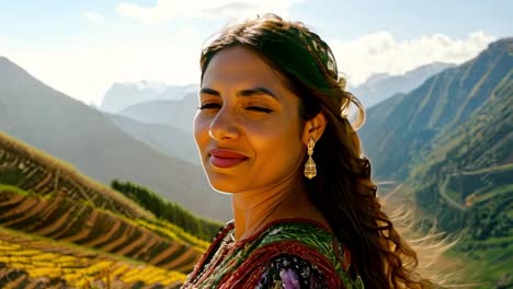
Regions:
<instances>
[{"instance_id":1,"label":"woman with long wavy hair, gold earring and patterned dress","mask_svg":"<svg viewBox=\"0 0 513 289\"><path fill-rule=\"evenodd\" d=\"M267 14L225 30L201 68L194 137L235 220L183 288L432 286L380 209L346 118L363 108L318 35Z\"/></svg>"}]
</instances>

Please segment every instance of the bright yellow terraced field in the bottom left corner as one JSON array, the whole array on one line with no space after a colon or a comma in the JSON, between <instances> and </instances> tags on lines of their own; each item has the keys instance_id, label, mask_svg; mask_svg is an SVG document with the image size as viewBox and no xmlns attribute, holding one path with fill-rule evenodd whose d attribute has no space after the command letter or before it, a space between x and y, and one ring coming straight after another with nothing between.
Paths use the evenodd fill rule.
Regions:
<instances>
[{"instance_id":1,"label":"bright yellow terraced field in the bottom left corner","mask_svg":"<svg viewBox=\"0 0 513 289\"><path fill-rule=\"evenodd\" d=\"M0 229L0 288L179 288L185 274Z\"/></svg>"}]
</instances>

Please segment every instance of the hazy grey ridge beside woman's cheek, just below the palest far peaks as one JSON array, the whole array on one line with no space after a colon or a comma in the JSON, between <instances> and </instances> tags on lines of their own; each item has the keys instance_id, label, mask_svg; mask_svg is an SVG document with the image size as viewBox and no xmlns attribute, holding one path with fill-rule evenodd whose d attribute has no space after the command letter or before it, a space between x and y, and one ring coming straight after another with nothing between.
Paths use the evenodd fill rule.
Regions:
<instances>
[{"instance_id":1,"label":"hazy grey ridge beside woman's cheek, just below the palest far peaks","mask_svg":"<svg viewBox=\"0 0 513 289\"><path fill-rule=\"evenodd\" d=\"M197 93L195 92L186 94L182 100L149 101L134 104L119 114L142 123L162 124L192 132L197 106Z\"/></svg>"}]
</instances>

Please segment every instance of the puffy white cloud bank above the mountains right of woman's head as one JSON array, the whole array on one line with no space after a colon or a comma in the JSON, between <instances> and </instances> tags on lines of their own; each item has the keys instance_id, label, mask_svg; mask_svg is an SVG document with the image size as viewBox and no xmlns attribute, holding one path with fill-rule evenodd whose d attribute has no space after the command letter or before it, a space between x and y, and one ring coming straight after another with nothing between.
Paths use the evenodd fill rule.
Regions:
<instances>
[{"instance_id":1,"label":"puffy white cloud bank above the mountains right of woman's head","mask_svg":"<svg viewBox=\"0 0 513 289\"><path fill-rule=\"evenodd\" d=\"M378 32L354 41L333 39L329 45L340 72L346 74L351 85L358 85L373 73L402 74L434 61L463 63L495 38L478 31L464 39L433 34L398 42L388 32Z\"/></svg>"}]
</instances>

